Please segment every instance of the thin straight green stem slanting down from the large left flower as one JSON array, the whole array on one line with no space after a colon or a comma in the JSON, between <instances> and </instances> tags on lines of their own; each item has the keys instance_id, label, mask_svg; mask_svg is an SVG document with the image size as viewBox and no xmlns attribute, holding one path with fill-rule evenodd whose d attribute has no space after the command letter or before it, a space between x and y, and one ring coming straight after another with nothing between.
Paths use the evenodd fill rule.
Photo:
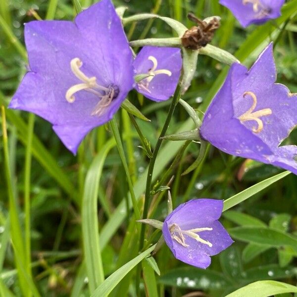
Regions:
<instances>
[{"instance_id":1,"label":"thin straight green stem slanting down from the large left flower","mask_svg":"<svg viewBox=\"0 0 297 297\"><path fill-rule=\"evenodd\" d=\"M132 205L133 205L135 217L136 217L137 220L139 220L140 217L141 217L140 216L140 211L138 209L137 200L136 200L136 197L135 197L135 194L134 194L133 184L132 184L132 180L131 180L131 177L130 177L129 168L128 168L127 160L126 160L126 157L125 157L125 152L124 152L124 148L123 148L123 144L122 144L122 141L121 141L121 137L120 137L120 133L119 133L119 129L118 129L118 126L117 126L116 119L113 118L109 123L110 123L110 127L111 127L111 130L112 130L112 133L113 133L113 136L114 136L114 139L115 139L118 151L119 151L120 158L121 158L123 166L124 166L125 173L126 173L129 192L130 192L131 199L132 199Z\"/></svg>"}]
</instances>

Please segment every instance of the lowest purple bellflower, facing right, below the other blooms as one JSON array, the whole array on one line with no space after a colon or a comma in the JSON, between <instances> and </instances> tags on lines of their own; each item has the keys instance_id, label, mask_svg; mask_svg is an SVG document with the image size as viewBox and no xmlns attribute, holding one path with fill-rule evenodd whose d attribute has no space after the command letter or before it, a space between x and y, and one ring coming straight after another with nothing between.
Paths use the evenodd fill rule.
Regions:
<instances>
[{"instance_id":1,"label":"lowest purple bellflower, facing right, below the other blooms","mask_svg":"<svg viewBox=\"0 0 297 297\"><path fill-rule=\"evenodd\" d=\"M210 256L233 243L218 221L222 209L223 200L193 199L166 217L163 237L177 259L205 269L210 265Z\"/></svg>"}]
</instances>

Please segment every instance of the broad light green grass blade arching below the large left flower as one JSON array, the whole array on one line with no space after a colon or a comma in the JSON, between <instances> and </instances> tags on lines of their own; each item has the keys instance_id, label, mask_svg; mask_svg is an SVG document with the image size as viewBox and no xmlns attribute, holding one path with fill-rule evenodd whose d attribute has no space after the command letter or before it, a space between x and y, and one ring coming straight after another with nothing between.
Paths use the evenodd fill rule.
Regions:
<instances>
[{"instance_id":1,"label":"broad light green grass blade arching below the large left flower","mask_svg":"<svg viewBox=\"0 0 297 297\"><path fill-rule=\"evenodd\" d=\"M109 150L114 146L115 141L112 139L101 148L99 154L93 159L85 181L82 203L82 231L87 275L91 293L93 293L104 280L101 250L99 246L97 201L99 180L104 161Z\"/></svg>"}]
</instances>

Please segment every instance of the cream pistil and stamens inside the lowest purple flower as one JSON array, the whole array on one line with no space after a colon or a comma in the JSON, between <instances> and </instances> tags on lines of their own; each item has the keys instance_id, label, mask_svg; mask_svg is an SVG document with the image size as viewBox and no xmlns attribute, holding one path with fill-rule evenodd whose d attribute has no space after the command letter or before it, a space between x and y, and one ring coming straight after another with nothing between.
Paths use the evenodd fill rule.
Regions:
<instances>
[{"instance_id":1,"label":"cream pistil and stamens inside the lowest purple flower","mask_svg":"<svg viewBox=\"0 0 297 297\"><path fill-rule=\"evenodd\" d=\"M194 238L201 244L207 245L208 247L212 247L212 244L210 242L200 238L200 236L196 234L202 231L212 231L212 228L196 228L191 230L182 230L178 224L173 223L169 227L169 231L171 238L177 241L183 247L189 247L189 245L186 244L186 239L184 235Z\"/></svg>"}]
</instances>

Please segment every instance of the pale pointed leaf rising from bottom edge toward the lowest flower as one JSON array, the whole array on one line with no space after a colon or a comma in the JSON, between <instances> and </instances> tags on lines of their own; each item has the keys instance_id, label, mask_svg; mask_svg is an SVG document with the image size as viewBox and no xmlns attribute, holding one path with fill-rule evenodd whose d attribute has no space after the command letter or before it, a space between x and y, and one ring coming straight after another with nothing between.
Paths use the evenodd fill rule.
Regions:
<instances>
[{"instance_id":1,"label":"pale pointed leaf rising from bottom edge toward the lowest flower","mask_svg":"<svg viewBox=\"0 0 297 297\"><path fill-rule=\"evenodd\" d=\"M106 297L115 288L115 286L131 271L139 262L147 257L155 248L155 245L149 247L140 255L123 265L121 268L111 274L91 295L91 297Z\"/></svg>"}]
</instances>

